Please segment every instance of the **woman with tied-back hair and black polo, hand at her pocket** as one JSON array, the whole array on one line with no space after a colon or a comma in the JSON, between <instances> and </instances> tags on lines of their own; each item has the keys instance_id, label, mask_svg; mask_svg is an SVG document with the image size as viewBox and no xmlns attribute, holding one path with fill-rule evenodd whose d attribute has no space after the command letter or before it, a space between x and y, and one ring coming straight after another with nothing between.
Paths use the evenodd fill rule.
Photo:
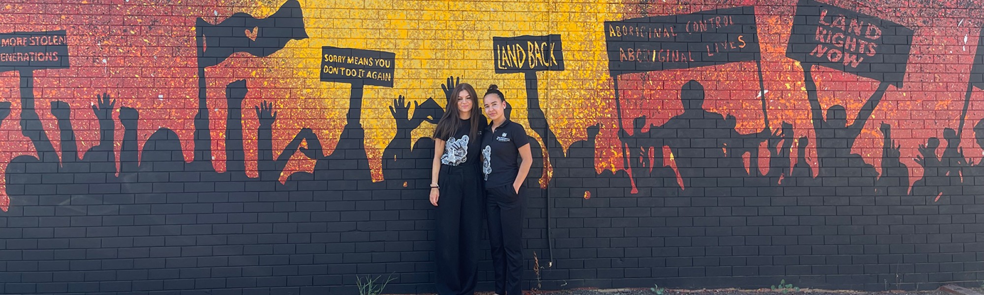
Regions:
<instances>
[{"instance_id":1,"label":"woman with tied-back hair and black polo, hand at her pocket","mask_svg":"<svg viewBox=\"0 0 984 295\"><path fill-rule=\"evenodd\" d=\"M505 116L506 95L492 85L482 98L492 124L482 135L482 173L497 295L523 295L523 198L532 153L525 128ZM517 157L522 161L517 163Z\"/></svg>"}]
</instances>

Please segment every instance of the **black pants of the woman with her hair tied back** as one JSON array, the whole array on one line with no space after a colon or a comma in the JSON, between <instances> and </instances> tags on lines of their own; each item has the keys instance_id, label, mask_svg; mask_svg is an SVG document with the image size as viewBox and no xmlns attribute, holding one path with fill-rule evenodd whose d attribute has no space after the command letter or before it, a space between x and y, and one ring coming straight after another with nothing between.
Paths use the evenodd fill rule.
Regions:
<instances>
[{"instance_id":1,"label":"black pants of the woman with her hair tied back","mask_svg":"<svg viewBox=\"0 0 984 295\"><path fill-rule=\"evenodd\" d=\"M523 200L512 184L485 192L495 292L523 295Z\"/></svg>"}]
</instances>

